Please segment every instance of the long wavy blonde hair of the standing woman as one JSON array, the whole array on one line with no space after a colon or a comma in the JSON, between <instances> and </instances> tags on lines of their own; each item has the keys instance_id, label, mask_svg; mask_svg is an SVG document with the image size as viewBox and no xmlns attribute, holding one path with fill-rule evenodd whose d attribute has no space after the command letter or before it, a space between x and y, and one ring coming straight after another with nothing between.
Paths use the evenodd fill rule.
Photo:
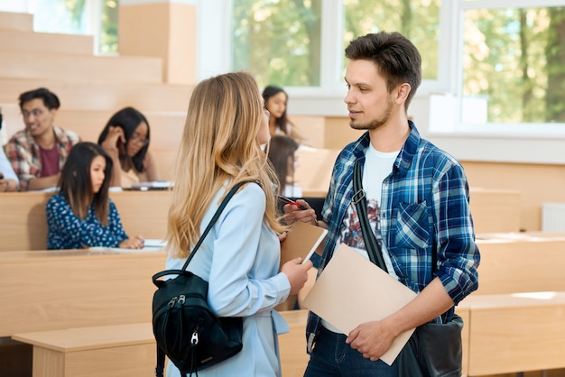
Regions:
<instances>
[{"instance_id":1,"label":"long wavy blonde hair of the standing woman","mask_svg":"<svg viewBox=\"0 0 565 377\"><path fill-rule=\"evenodd\" d=\"M227 73L194 88L169 207L167 248L173 257L190 254L202 217L227 181L227 190L243 180L257 181L266 197L264 220L275 232L285 229L272 189L278 180L256 141L262 122L263 101L251 74Z\"/></svg>"}]
</instances>

